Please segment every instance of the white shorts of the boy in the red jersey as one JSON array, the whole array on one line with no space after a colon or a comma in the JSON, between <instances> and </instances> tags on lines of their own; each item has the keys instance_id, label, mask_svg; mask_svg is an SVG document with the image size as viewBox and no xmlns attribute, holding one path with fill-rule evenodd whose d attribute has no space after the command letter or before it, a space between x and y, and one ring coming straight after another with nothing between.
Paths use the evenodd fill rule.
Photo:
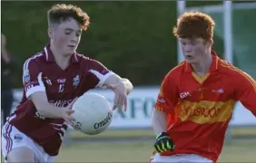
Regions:
<instances>
[{"instance_id":1,"label":"white shorts of the boy in the red jersey","mask_svg":"<svg viewBox=\"0 0 256 163\"><path fill-rule=\"evenodd\" d=\"M194 162L194 163L212 163L213 161L208 158L203 158L199 155L194 154L184 154L184 155L173 155L173 156L160 156L159 154L153 155L153 158L150 160L150 163L163 163L163 162Z\"/></svg>"}]
</instances>

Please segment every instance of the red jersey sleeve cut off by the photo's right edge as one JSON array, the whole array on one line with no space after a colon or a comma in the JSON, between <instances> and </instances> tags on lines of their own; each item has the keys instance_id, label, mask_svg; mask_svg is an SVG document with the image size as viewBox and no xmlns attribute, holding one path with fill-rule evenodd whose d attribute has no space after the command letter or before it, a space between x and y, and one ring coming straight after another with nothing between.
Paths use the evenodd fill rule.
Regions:
<instances>
[{"instance_id":1,"label":"red jersey sleeve cut off by the photo's right edge","mask_svg":"<svg viewBox=\"0 0 256 163\"><path fill-rule=\"evenodd\" d=\"M245 72L240 72L236 81L236 101L241 101L241 104L251 110L256 117L256 82Z\"/></svg>"}]
</instances>

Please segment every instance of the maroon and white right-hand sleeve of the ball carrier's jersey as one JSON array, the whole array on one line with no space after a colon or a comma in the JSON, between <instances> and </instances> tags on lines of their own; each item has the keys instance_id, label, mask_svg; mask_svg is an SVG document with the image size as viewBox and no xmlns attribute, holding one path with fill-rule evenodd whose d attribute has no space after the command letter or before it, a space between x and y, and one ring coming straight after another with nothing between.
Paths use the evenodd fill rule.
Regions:
<instances>
[{"instance_id":1,"label":"maroon and white right-hand sleeve of the ball carrier's jersey","mask_svg":"<svg viewBox=\"0 0 256 163\"><path fill-rule=\"evenodd\" d=\"M101 62L91 59L89 74L94 87L103 87L104 81L114 73L108 70Z\"/></svg>"}]
</instances>

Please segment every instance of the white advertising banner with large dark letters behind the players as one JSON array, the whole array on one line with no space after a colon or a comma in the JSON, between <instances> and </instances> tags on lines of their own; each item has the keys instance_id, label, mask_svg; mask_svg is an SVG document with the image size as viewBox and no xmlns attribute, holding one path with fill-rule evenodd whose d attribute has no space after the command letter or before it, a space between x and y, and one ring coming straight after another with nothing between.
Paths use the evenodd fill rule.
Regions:
<instances>
[{"instance_id":1,"label":"white advertising banner with large dark letters behind the players","mask_svg":"<svg viewBox=\"0 0 256 163\"><path fill-rule=\"evenodd\" d=\"M112 129L140 129L151 128L150 117L153 110L159 87L135 88L128 97L128 110L123 113L114 111L113 122L110 125ZM113 92L108 90L94 90L102 94L113 103ZM21 101L23 91L15 90L15 99ZM14 108L18 104L14 103ZM240 102L236 104L231 126L256 126L256 119L251 111L246 110Z\"/></svg>"}]
</instances>

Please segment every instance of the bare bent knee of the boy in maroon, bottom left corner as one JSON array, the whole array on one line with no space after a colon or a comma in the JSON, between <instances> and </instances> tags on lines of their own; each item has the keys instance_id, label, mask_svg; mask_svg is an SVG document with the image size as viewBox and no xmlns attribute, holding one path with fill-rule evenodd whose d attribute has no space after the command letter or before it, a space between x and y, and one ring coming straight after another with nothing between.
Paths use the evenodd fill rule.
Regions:
<instances>
[{"instance_id":1,"label":"bare bent knee of the boy in maroon, bottom left corner","mask_svg":"<svg viewBox=\"0 0 256 163\"><path fill-rule=\"evenodd\" d=\"M12 149L6 156L7 162L34 162L34 152L27 147Z\"/></svg>"}]
</instances>

